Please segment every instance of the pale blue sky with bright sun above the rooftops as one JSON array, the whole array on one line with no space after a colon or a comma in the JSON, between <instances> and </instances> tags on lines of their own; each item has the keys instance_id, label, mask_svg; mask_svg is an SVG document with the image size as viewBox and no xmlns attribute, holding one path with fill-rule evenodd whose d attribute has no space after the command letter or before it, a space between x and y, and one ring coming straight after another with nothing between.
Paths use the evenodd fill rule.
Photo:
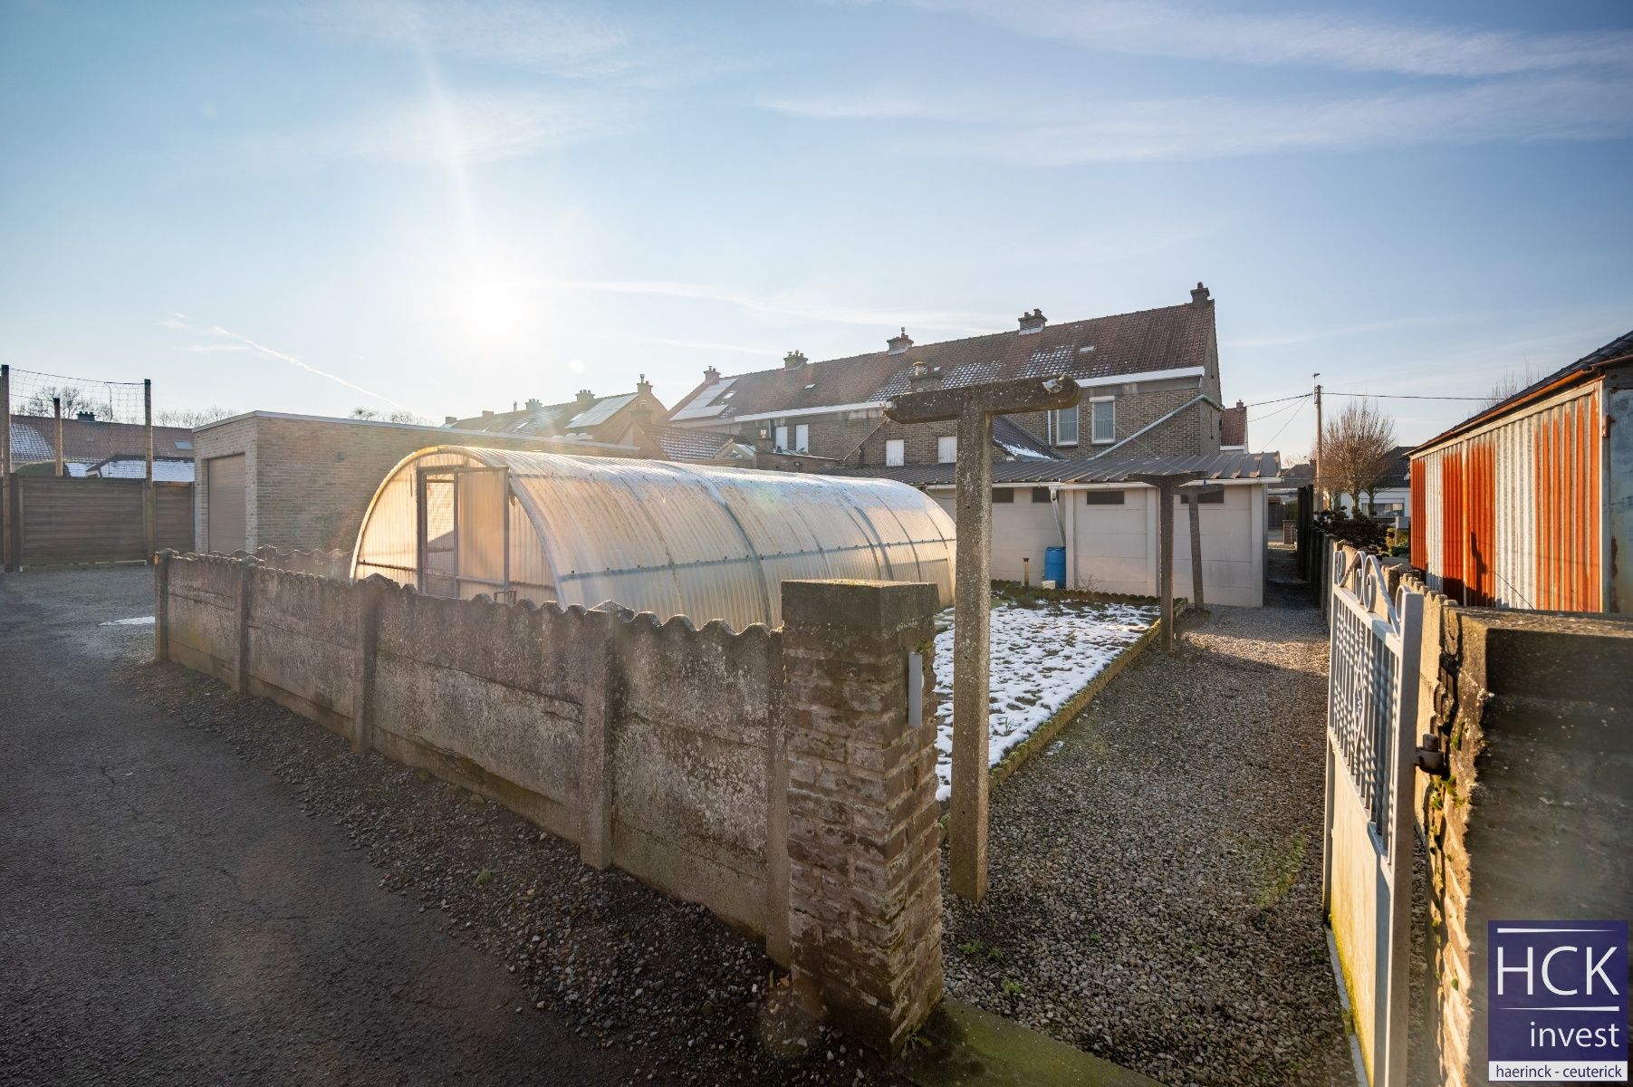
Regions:
<instances>
[{"instance_id":1,"label":"pale blue sky with bright sun above the rooftops","mask_svg":"<svg viewBox=\"0 0 1633 1087\"><path fill-rule=\"evenodd\" d=\"M0 0L0 361L441 419L1202 279L1230 402L1479 395L1633 328L1630 135L1625 3Z\"/></svg>"}]
</instances>

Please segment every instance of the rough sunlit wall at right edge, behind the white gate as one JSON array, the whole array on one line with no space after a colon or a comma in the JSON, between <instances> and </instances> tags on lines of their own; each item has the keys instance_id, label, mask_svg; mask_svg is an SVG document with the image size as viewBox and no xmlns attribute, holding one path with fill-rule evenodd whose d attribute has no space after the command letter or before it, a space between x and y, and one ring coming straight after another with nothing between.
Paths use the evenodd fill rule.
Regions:
<instances>
[{"instance_id":1,"label":"rough sunlit wall at right edge, behind the white gate","mask_svg":"<svg viewBox=\"0 0 1633 1087\"><path fill-rule=\"evenodd\" d=\"M1417 581L1409 581L1422 589ZM1604 921L1633 904L1633 622L1457 607L1427 592L1417 774L1429 860L1435 1054L1484 1082L1488 921Z\"/></svg>"}]
</instances>

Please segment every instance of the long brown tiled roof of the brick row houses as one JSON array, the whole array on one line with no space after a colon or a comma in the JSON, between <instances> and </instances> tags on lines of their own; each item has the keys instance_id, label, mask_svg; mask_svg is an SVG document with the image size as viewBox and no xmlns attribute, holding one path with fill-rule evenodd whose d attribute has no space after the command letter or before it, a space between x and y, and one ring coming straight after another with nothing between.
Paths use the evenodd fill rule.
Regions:
<instances>
[{"instance_id":1,"label":"long brown tiled roof of the brick row houses","mask_svg":"<svg viewBox=\"0 0 1633 1087\"><path fill-rule=\"evenodd\" d=\"M670 421L723 421L768 411L879 403L908 390L908 374L916 362L939 372L942 385L1205 367L1212 331L1213 305L1207 302L1045 325L1037 333L1011 330L916 344L900 354L874 351L705 380L674 406Z\"/></svg>"}]
</instances>

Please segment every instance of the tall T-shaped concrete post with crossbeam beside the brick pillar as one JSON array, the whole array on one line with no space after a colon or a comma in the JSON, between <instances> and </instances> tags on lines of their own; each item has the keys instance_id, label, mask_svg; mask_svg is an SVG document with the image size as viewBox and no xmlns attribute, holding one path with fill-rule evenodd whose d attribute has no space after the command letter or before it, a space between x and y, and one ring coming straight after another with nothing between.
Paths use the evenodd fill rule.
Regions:
<instances>
[{"instance_id":1,"label":"tall T-shaped concrete post with crossbeam beside the brick pillar","mask_svg":"<svg viewBox=\"0 0 1633 1087\"><path fill-rule=\"evenodd\" d=\"M957 419L957 579L952 610L952 865L954 894L986 894L986 787L990 637L993 592L993 416L1078 403L1070 377L1022 377L959 388L928 388L885 405L895 423Z\"/></svg>"}]
</instances>

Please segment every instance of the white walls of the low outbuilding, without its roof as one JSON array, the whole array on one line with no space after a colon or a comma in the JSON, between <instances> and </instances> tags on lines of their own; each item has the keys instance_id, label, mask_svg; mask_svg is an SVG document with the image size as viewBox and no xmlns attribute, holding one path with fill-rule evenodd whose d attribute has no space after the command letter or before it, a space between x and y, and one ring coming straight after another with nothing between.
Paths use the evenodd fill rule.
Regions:
<instances>
[{"instance_id":1,"label":"white walls of the low outbuilding, without its roof","mask_svg":"<svg viewBox=\"0 0 1633 1087\"><path fill-rule=\"evenodd\" d=\"M1083 490L1061 490L1066 512L1066 579L1071 588L1156 596L1156 491L1128 485L1122 506L1089 506ZM954 516L952 490L929 495ZM1061 545L1050 503L1034 503L1032 488L1016 488L1014 503L993 506L993 578L1021 581L1030 558L1032 584L1043 579L1043 548ZM1208 604L1264 604L1266 490L1259 483L1225 486L1225 501L1202 506L1202 588ZM1190 517L1174 508L1174 591L1192 596Z\"/></svg>"}]
</instances>

